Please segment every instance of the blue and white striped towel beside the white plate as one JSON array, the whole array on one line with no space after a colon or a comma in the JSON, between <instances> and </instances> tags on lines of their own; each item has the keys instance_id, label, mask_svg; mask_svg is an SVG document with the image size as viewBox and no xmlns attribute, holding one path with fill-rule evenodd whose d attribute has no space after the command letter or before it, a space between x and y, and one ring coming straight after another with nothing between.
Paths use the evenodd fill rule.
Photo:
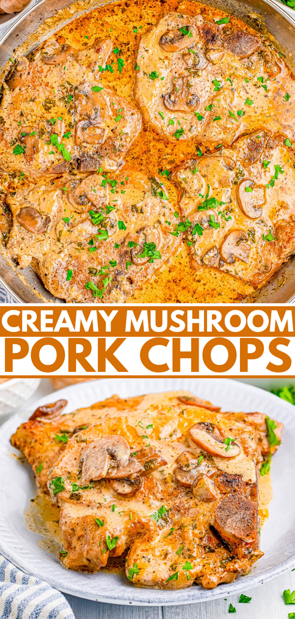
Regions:
<instances>
[{"instance_id":1,"label":"blue and white striped towel beside the white plate","mask_svg":"<svg viewBox=\"0 0 295 619\"><path fill-rule=\"evenodd\" d=\"M75 619L56 589L0 555L0 619Z\"/></svg>"}]
</instances>

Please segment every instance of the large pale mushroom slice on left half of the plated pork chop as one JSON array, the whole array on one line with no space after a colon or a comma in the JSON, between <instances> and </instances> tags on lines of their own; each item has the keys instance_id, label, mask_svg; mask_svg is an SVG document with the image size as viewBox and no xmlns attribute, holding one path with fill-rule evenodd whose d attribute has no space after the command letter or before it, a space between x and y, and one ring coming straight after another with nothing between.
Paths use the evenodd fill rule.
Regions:
<instances>
[{"instance_id":1,"label":"large pale mushroom slice on left half of the plated pork chop","mask_svg":"<svg viewBox=\"0 0 295 619\"><path fill-rule=\"evenodd\" d=\"M109 435L93 441L82 456L82 485L105 477L110 464L124 467L130 457L130 447L123 436Z\"/></svg>"}]
</instances>

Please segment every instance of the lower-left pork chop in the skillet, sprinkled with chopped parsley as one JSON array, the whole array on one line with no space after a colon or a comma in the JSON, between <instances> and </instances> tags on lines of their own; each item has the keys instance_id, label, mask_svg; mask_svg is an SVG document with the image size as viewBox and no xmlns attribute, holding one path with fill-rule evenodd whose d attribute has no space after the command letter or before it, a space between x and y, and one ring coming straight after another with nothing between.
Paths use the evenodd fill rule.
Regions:
<instances>
[{"instance_id":1,"label":"lower-left pork chop in the skillet, sprinkled with chopped parsley","mask_svg":"<svg viewBox=\"0 0 295 619\"><path fill-rule=\"evenodd\" d=\"M182 240L162 180L133 170L116 178L99 173L40 181L17 191L9 204L9 256L22 267L31 264L46 288L67 301L125 301Z\"/></svg>"}]
</instances>

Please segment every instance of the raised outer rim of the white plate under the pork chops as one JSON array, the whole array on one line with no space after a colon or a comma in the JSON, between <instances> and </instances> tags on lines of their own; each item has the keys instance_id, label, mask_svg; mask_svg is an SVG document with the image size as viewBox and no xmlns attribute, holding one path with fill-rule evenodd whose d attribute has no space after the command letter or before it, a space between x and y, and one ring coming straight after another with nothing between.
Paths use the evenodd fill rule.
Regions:
<instances>
[{"instance_id":1,"label":"raised outer rim of the white plate under the pork chops","mask_svg":"<svg viewBox=\"0 0 295 619\"><path fill-rule=\"evenodd\" d=\"M91 381L92 386L94 386L95 384L97 384L97 387L100 386L104 386L105 384L110 384L111 388L116 391L115 389L115 384L116 383L120 383L122 381L122 379L124 380L126 377L118 377L115 379L113 378L105 378L105 379L99 379L97 381ZM149 381L149 383L154 383L154 392L157 392L157 381L154 381L155 377L145 377L142 379L130 379L131 383L138 383L139 384L139 392L141 391L141 383L146 383L146 381ZM170 377L161 377L166 381L173 381L173 387L175 389L175 380L174 378L170 378ZM180 381L180 383L183 381L182 377L177 377L178 381ZM198 381L198 377L186 377L184 380L195 380ZM200 379L199 379L200 380ZM240 388L242 389L242 391L250 391L253 392L253 394L260 394L261 396L261 392L263 392L263 396L266 399L271 400L271 402L275 402L275 399L277 398L277 396L275 396L274 394L271 394L270 392L254 386L254 385L250 385L247 383L239 383L239 381L234 381L233 379L229 379L229 378L218 378L218 377L214 377L214 378L208 378L208 379L201 379L202 381L211 381L214 380L216 383L222 384L224 385L224 381L227 383L228 386L232 386L237 387L237 384L239 384ZM177 381L177 383L178 383ZM83 385L87 386L87 382L86 383L82 383ZM167 387L167 391L172 390L173 387L171 386L170 389ZM19 412L15 413L14 415L11 415L11 417L9 417L9 419L4 422L1 426L0 426L0 442L2 435L6 435L6 431L9 430L9 432L11 432L11 426L14 426L15 422L19 423L24 423L24 418L22 418L24 416L24 413L26 411L30 411L32 410L33 407L35 407L35 405L42 405L45 403L45 401L48 401L48 398L50 398L51 396L63 396L66 397L66 394L69 392L69 390L71 390L73 392L73 390L79 389L81 388L81 383L77 383L76 385L69 385L67 387L62 387L61 389L59 389L58 391L52 391L49 394L46 394L46 396L43 396L39 399L36 400L35 403L31 403L29 405L26 405L25 407L23 407ZM182 386L180 384L179 388L181 389ZM159 390L158 390L159 391ZM99 394L98 396L99 397ZM286 412L293 412L294 415L294 405L290 404L289 402L286 402L286 400L282 400L280 399L280 402L276 402L276 404L279 404L281 407L283 407L283 409L286 409ZM20 417L22 416L22 417ZM37 576L37 578L42 578L42 576L40 577L40 573L37 573L36 571L32 570L28 570L27 565L24 567L24 565L22 565L22 560L20 558L17 557L17 555L15 556L15 553L13 550L9 550L9 548L3 548L3 545L5 547L5 543L2 542L2 539L0 538L0 552L6 556L6 558L11 561L12 563L14 563L14 565L16 565L19 569L22 569L22 571L25 571L25 573L29 573L31 576ZM79 585L73 584L70 587L67 586L63 586L62 583L60 583L58 581L58 577L55 578L50 578L49 580L46 579L46 582L48 582L48 584L50 584L51 586L53 586L55 589L58 589L58 591L61 591L63 593L66 594L70 594L70 595L74 595L76 597L81 597L83 599L89 599L89 600L94 600L97 602L104 602L107 604L121 604L121 605L134 605L134 606L172 606L172 605L179 605L179 604L195 604L196 602L206 602L209 601L211 599L219 599L221 597L224 597L224 595L234 595L234 594L239 594L240 592L242 592L246 587L247 589L255 589L256 587L260 586L260 584L263 584L263 582L268 582L271 581L275 578L278 578L278 576L280 576L281 574L283 574L285 571L287 571L288 569L293 568L293 566L295 565L295 552L294 554L287 560L283 561L282 563L280 563L280 565L276 566L275 568L270 568L268 570L266 570L265 572L263 572L262 574L258 574L255 575L253 574L253 576L249 579L247 579L247 584L243 584L243 580L242 578L234 581L235 583L235 587L234 590L232 590L231 586L228 585L229 591L225 590L224 588L221 591L221 587L225 587L224 585L218 586L215 589L208 589L205 591L208 591L208 595L204 596L204 597L195 597L194 591L200 591L200 589L196 589L196 587L190 587L188 589L180 589L179 592L183 592L183 591L187 591L188 592L188 596L187 599L183 600L165 600L165 599L161 599L161 601L153 601L153 600L144 600L144 602L141 602L139 599L134 599L134 597L139 597L140 595L144 595L144 592L151 592L151 597L154 597L155 595L159 594L164 594L169 596L170 594L174 594L177 595L178 591L170 591L170 590L166 590L163 591L161 589L149 589L146 587L130 587L130 595L128 595L125 599L120 599L120 594L118 597L105 597L102 595L94 595L91 594L90 592L84 592L81 591L81 589L79 589ZM68 571L68 570L67 570ZM98 573L99 574L99 573ZM232 584L232 583L231 583ZM227 586L227 585L226 585ZM129 588L129 587L128 587ZM204 590L202 590L204 592ZM133 592L136 593L137 595L133 595ZM191 594L190 594L191 593ZM190 595L189 595L190 594ZM164 596L163 596L164 597Z\"/></svg>"}]
</instances>

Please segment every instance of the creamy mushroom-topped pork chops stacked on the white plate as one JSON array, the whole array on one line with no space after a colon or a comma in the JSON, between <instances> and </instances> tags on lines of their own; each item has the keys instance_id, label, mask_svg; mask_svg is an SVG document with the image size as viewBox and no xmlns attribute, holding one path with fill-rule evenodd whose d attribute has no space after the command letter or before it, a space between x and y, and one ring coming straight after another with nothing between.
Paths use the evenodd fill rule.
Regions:
<instances>
[{"instance_id":1,"label":"creamy mushroom-topped pork chops stacked on the white plate","mask_svg":"<svg viewBox=\"0 0 295 619\"><path fill-rule=\"evenodd\" d=\"M259 469L281 424L181 391L65 404L38 409L11 442L60 508L66 567L95 572L127 553L138 586L211 589L262 556Z\"/></svg>"}]
</instances>

